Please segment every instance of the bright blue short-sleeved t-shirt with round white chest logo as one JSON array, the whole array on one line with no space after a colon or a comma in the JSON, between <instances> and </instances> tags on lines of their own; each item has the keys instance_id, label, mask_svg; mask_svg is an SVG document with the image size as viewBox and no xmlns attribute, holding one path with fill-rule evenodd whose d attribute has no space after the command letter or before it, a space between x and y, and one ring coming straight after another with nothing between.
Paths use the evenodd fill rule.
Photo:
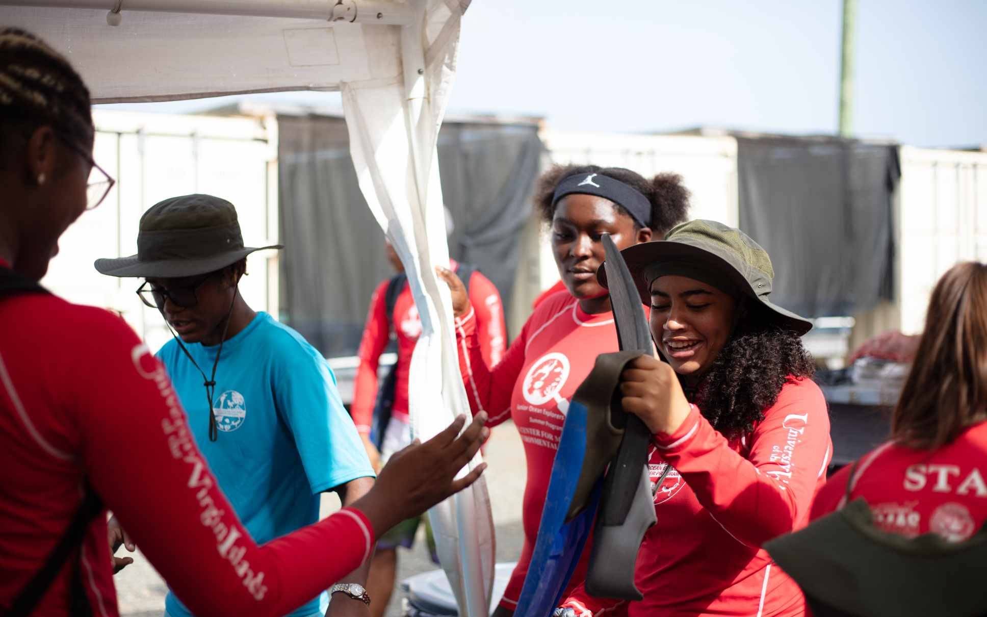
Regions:
<instances>
[{"instance_id":1,"label":"bright blue short-sleeved t-shirt with round white chest logo","mask_svg":"<svg viewBox=\"0 0 987 617\"><path fill-rule=\"evenodd\" d=\"M186 346L209 376L219 346ZM189 426L219 488L258 544L319 519L319 494L373 469L326 358L266 313L223 344L209 441L205 387L175 341L158 351L189 415ZM325 610L326 592L290 615ZM174 593L165 608L191 615Z\"/></svg>"}]
</instances>

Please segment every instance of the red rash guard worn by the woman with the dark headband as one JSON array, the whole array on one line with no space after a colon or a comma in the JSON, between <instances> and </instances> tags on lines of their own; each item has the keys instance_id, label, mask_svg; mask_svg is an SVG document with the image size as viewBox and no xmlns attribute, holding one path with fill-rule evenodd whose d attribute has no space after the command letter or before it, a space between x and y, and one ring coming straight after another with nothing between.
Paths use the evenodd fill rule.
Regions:
<instances>
[{"instance_id":1,"label":"red rash guard worn by the woman with the dark headband","mask_svg":"<svg viewBox=\"0 0 987 617\"><path fill-rule=\"evenodd\" d=\"M500 600L501 606L513 609L538 537L552 463L562 436L565 412L560 410L560 402L568 408L575 389L592 370L597 353L617 350L617 330L612 313L587 315L564 291L535 309L493 370L484 361L472 313L457 323L456 339L473 412L486 410L488 426L513 419L524 443L528 467L522 505L524 544ZM586 550L573 579L585 574L588 555Z\"/></svg>"}]
</instances>

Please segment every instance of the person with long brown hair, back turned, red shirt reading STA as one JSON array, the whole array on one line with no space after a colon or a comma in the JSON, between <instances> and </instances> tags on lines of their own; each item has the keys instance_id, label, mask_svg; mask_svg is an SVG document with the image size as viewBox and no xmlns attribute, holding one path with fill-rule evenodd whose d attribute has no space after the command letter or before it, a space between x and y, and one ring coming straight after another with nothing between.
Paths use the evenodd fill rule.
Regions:
<instances>
[{"instance_id":1,"label":"person with long brown hair, back turned, red shirt reading STA","mask_svg":"<svg viewBox=\"0 0 987 617\"><path fill-rule=\"evenodd\" d=\"M890 441L834 475L812 518L859 497L878 528L907 537L961 542L987 521L987 265L940 278Z\"/></svg>"}]
</instances>

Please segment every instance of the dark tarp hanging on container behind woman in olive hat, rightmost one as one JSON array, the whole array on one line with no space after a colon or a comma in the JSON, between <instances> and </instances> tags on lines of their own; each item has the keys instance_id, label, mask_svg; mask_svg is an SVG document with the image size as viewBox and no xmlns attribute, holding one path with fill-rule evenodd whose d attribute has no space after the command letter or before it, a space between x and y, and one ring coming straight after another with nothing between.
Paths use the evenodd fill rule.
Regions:
<instances>
[{"instance_id":1,"label":"dark tarp hanging on container behind woman in olive hat, rightmost one","mask_svg":"<svg viewBox=\"0 0 987 617\"><path fill-rule=\"evenodd\" d=\"M772 302L813 318L892 298L896 146L738 137L737 173L740 228L775 269Z\"/></svg>"}]
</instances>

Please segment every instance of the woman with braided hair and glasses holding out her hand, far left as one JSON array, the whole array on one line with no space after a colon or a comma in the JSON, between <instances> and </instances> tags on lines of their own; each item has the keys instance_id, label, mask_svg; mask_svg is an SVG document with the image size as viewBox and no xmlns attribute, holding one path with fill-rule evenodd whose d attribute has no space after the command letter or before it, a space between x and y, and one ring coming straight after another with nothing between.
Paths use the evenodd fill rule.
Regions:
<instances>
[{"instance_id":1,"label":"woman with braided hair and glasses holding out her hand, far left","mask_svg":"<svg viewBox=\"0 0 987 617\"><path fill-rule=\"evenodd\" d=\"M117 615L109 508L194 614L283 615L353 571L377 536L474 482L483 466L454 476L486 417L409 446L359 500L258 546L161 362L114 314L38 285L59 236L113 186L94 132L66 59L0 29L0 614Z\"/></svg>"}]
</instances>

